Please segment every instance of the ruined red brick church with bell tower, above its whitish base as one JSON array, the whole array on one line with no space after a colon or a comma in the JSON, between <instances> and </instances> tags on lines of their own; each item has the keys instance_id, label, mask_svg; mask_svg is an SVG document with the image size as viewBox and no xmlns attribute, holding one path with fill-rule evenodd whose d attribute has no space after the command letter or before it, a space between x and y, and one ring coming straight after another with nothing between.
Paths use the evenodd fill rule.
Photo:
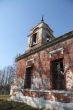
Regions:
<instances>
[{"instance_id":1,"label":"ruined red brick church with bell tower, above its whitish base","mask_svg":"<svg viewBox=\"0 0 73 110\"><path fill-rule=\"evenodd\" d=\"M42 18L28 35L24 54L16 58L24 96L73 102L73 31L55 38Z\"/></svg>"}]
</instances>

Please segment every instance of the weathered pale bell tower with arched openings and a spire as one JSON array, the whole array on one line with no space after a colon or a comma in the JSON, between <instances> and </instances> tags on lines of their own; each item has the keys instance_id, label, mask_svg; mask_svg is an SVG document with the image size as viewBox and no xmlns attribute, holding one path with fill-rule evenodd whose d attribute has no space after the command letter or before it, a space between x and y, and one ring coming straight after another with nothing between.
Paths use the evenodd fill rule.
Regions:
<instances>
[{"instance_id":1,"label":"weathered pale bell tower with arched openings and a spire","mask_svg":"<svg viewBox=\"0 0 73 110\"><path fill-rule=\"evenodd\" d=\"M54 39L53 31L44 22L44 19L42 17L41 22L30 30L26 51L39 47L45 43L49 43L52 39Z\"/></svg>"}]
</instances>

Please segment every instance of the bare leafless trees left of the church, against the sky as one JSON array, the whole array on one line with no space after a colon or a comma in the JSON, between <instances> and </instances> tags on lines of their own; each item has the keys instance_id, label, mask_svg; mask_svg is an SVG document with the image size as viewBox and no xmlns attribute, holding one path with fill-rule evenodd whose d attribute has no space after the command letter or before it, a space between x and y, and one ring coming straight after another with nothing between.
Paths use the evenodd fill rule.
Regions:
<instances>
[{"instance_id":1,"label":"bare leafless trees left of the church, against the sky","mask_svg":"<svg viewBox=\"0 0 73 110\"><path fill-rule=\"evenodd\" d=\"M7 66L3 68L3 70L0 70L0 84L6 85L13 83L13 78L15 76L16 67L13 66Z\"/></svg>"}]
</instances>

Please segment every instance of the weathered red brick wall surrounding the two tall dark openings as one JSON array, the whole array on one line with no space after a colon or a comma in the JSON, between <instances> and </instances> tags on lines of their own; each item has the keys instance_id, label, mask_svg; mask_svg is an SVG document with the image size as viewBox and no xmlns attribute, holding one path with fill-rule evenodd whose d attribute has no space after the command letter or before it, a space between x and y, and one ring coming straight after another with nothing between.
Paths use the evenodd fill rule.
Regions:
<instances>
[{"instance_id":1,"label":"weathered red brick wall surrounding the two tall dark openings","mask_svg":"<svg viewBox=\"0 0 73 110\"><path fill-rule=\"evenodd\" d=\"M63 58L65 89L73 90L73 38L17 61L17 76L25 78L27 61L33 59L31 89L51 89L51 61L59 58Z\"/></svg>"}]
</instances>

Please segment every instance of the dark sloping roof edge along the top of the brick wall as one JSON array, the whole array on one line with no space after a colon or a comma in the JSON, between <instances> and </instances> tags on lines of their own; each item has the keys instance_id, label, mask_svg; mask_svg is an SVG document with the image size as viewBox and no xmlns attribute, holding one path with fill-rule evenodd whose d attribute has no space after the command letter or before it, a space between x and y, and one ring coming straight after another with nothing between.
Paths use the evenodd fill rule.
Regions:
<instances>
[{"instance_id":1,"label":"dark sloping roof edge along the top of the brick wall","mask_svg":"<svg viewBox=\"0 0 73 110\"><path fill-rule=\"evenodd\" d=\"M73 31L70 31L70 32L68 32L68 33L66 33L66 34L64 34L64 35L62 35L62 36L60 36L60 37L57 37L57 38L53 39L53 40L50 41L49 43L46 43L46 44L44 44L44 45L42 45L42 46L40 46L40 47L36 47L36 48L34 48L34 49L31 49L30 51L28 51L28 52L26 52L26 53L24 53L24 54L18 56L18 57L15 59L15 61L17 62L17 61L19 61L19 60L21 60L21 59L23 59L23 58L26 58L26 57L29 56L29 55L32 55L32 54L34 54L34 53L37 53L37 52L39 52L39 51L41 51L41 50L43 50L43 49L45 49L45 48L51 47L51 46L53 46L53 45L55 45L55 44L57 44L57 43L59 43L59 42L61 42L61 41L70 39L70 38L72 38L72 37L73 37Z\"/></svg>"}]
</instances>

